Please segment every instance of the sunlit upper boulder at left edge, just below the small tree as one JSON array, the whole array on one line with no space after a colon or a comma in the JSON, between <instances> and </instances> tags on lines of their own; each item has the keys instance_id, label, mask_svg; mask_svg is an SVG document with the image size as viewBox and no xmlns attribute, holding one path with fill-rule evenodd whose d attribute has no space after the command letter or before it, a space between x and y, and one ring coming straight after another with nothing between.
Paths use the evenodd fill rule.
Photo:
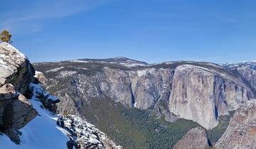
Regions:
<instances>
[{"instance_id":1,"label":"sunlit upper boulder at left edge, just below the small tree","mask_svg":"<svg viewBox=\"0 0 256 149\"><path fill-rule=\"evenodd\" d=\"M0 87L13 84L21 94L26 94L35 74L26 56L9 43L0 43L0 72Z\"/></svg>"}]
</instances>

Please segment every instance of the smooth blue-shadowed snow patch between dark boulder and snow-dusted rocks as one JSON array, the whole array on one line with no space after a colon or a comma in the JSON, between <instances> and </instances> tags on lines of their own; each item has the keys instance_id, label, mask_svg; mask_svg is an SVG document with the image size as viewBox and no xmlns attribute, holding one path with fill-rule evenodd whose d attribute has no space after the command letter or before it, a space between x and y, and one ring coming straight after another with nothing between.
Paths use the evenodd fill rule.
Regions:
<instances>
[{"instance_id":1,"label":"smooth blue-shadowed snow patch between dark boulder and snow-dusted rocks","mask_svg":"<svg viewBox=\"0 0 256 149\"><path fill-rule=\"evenodd\" d=\"M69 138L65 134L68 132L56 125L58 115L42 109L41 102L35 97L29 101L39 116L19 130L22 133L20 145L6 135L0 136L0 149L66 149Z\"/></svg>"}]
</instances>

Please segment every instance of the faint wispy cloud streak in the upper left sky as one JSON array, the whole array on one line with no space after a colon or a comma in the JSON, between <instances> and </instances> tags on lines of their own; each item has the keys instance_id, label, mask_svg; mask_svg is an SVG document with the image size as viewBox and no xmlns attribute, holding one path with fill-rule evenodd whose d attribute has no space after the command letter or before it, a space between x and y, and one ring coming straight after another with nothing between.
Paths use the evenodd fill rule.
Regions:
<instances>
[{"instance_id":1,"label":"faint wispy cloud streak in the upper left sky","mask_svg":"<svg viewBox=\"0 0 256 149\"><path fill-rule=\"evenodd\" d=\"M76 13L102 6L105 0L40 0L24 2L23 6L10 7L10 10L0 13L0 29L12 32L43 30L43 21L53 18L63 18ZM6 5L7 6L7 5ZM4 7L4 6L3 6Z\"/></svg>"}]
</instances>

